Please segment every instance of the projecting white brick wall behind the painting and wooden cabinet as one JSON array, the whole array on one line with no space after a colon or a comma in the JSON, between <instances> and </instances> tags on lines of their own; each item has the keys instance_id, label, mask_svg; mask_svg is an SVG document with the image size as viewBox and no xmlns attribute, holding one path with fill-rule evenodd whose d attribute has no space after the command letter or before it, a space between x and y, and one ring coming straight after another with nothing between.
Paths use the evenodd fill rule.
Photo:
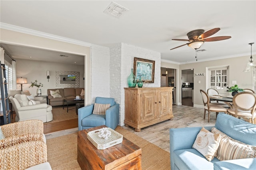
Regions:
<instances>
[{"instance_id":1,"label":"projecting white brick wall behind the painting and wooden cabinet","mask_svg":"<svg viewBox=\"0 0 256 170\"><path fill-rule=\"evenodd\" d=\"M110 97L115 98L120 104L120 121L124 125L124 87L128 87L127 77L133 68L134 57L149 59L155 61L154 83L148 84L148 87L160 87L160 53L120 43L110 48Z\"/></svg>"}]
</instances>

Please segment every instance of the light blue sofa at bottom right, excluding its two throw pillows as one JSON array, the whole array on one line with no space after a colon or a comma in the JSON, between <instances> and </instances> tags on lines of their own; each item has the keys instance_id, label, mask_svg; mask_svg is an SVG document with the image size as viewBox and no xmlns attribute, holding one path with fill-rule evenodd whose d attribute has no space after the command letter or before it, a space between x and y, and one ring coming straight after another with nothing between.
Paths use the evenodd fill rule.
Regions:
<instances>
[{"instance_id":1,"label":"light blue sofa at bottom right, excluding its two throw pillows","mask_svg":"<svg viewBox=\"0 0 256 170\"><path fill-rule=\"evenodd\" d=\"M256 146L256 125L227 114L218 114L216 129L229 137ZM211 131L212 127L204 127ZM220 161L216 157L209 162L192 148L202 127L170 129L170 162L172 170L256 170L256 158Z\"/></svg>"}]
</instances>

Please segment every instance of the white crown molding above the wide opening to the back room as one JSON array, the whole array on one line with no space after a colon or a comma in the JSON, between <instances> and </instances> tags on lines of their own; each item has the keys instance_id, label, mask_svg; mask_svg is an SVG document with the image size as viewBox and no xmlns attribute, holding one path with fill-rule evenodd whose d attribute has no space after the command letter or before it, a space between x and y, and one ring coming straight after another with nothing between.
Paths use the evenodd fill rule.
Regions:
<instances>
[{"instance_id":1,"label":"white crown molding above the wide opening to the back room","mask_svg":"<svg viewBox=\"0 0 256 170\"><path fill-rule=\"evenodd\" d=\"M3 23L3 22L0 22L0 28L8 29L8 30L11 30L11 31L16 31L16 32L21 32L21 33L26 33L26 34L30 34L30 35L35 35L35 36L38 36L38 37L54 39L54 40L57 40L57 41L63 41L63 42L66 42L66 43L82 45L82 46L86 46L86 47L91 47L92 46L91 43L86 43L84 41L78 41L78 40L75 40L75 39L70 39L70 38L61 37L61 36L58 36L58 35L44 33L44 32L41 32L41 31L36 31L36 30L33 30L33 29L24 28L24 27L19 27L19 26L16 26L16 25L11 25L11 24L8 24L8 23Z\"/></svg>"}]
</instances>

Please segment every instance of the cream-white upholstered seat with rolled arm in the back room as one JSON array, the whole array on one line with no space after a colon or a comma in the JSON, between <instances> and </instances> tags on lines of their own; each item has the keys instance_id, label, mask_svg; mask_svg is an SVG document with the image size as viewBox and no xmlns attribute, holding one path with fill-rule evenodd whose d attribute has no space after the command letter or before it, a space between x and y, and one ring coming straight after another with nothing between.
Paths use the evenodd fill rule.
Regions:
<instances>
[{"instance_id":1,"label":"cream-white upholstered seat with rolled arm in the back room","mask_svg":"<svg viewBox=\"0 0 256 170\"><path fill-rule=\"evenodd\" d=\"M25 94L16 94L14 97L10 96L9 100L12 102L16 113L16 122L30 119L38 119L43 122L52 121L52 106L48 104L32 102L28 100Z\"/></svg>"}]
</instances>

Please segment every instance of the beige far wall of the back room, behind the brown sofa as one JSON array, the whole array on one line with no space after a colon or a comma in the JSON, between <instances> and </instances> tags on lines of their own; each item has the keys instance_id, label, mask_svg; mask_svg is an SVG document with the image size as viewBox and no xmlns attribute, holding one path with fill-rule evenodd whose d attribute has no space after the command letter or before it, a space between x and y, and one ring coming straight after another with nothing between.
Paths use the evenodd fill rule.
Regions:
<instances>
[{"instance_id":1,"label":"beige far wall of the back room, behind the brown sofa","mask_svg":"<svg viewBox=\"0 0 256 170\"><path fill-rule=\"evenodd\" d=\"M46 71L50 70L50 79L46 78ZM28 84L23 84L23 91L29 90L33 96L36 96L37 87L30 87L31 82L35 80L38 83L42 83L43 87L40 87L42 94L47 94L47 89L58 88L55 87L55 71L74 71L80 72L79 74L79 87L84 87L84 65L74 64L61 64L61 63L50 63L44 61L24 60L16 59L16 74L17 78L23 77L28 79ZM17 89L20 89L20 84L17 84Z\"/></svg>"}]
</instances>

